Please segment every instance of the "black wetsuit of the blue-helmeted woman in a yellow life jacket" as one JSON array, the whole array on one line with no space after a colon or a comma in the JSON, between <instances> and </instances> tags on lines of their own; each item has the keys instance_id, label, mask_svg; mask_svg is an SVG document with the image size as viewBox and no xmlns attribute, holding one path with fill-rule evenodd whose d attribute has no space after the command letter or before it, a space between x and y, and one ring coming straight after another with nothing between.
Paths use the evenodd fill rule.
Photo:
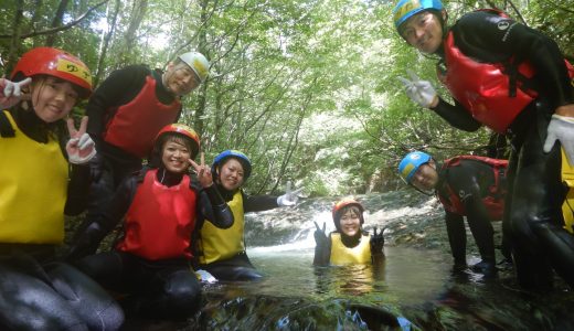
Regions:
<instances>
[{"instance_id":1,"label":"black wetsuit of the blue-helmeted woman in a yellow life jacket","mask_svg":"<svg viewBox=\"0 0 574 331\"><path fill-rule=\"evenodd\" d=\"M221 185L217 185L217 189L225 201L228 202L233 200L235 191L230 192ZM241 191L241 193L243 194L244 213L267 211L279 206L277 204L277 196L246 195L243 191ZM201 227L202 221L198 220L198 222L200 222L198 226ZM200 235L199 231L196 235ZM196 249L196 254L194 255L198 256L198 254L201 254L199 249ZM240 252L231 258L216 260L208 265L199 264L198 268L209 271L219 280L255 280L263 277L252 265L245 252Z\"/></svg>"}]
</instances>

